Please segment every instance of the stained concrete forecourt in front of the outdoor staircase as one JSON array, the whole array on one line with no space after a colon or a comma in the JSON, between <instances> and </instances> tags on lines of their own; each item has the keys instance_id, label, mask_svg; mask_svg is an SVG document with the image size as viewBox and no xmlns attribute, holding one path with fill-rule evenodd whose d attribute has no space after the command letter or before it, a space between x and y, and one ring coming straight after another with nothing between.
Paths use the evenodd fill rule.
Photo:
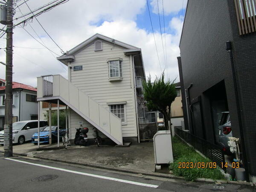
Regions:
<instances>
[{"instance_id":1,"label":"stained concrete forecourt in front of the outdoor staircase","mask_svg":"<svg viewBox=\"0 0 256 192\"><path fill-rule=\"evenodd\" d=\"M62 143L61 143L62 145ZM46 147L47 145L41 145ZM107 166L137 172L154 172L153 143L134 143L130 147L114 147L114 145L89 145L87 147L73 145L67 149L36 151L37 145L25 143L14 145L13 152L50 160L90 164L97 167ZM3 146L0 146L3 152Z\"/></svg>"}]
</instances>

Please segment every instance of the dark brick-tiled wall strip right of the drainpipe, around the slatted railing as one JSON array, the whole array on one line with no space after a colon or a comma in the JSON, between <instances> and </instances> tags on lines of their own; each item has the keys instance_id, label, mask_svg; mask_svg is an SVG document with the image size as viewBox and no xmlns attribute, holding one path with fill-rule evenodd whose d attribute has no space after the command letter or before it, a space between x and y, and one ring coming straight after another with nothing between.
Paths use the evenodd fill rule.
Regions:
<instances>
[{"instance_id":1,"label":"dark brick-tiled wall strip right of the drainpipe, around the slatted railing","mask_svg":"<svg viewBox=\"0 0 256 192\"><path fill-rule=\"evenodd\" d=\"M229 0L233 56L239 87L244 143L250 173L256 175L256 32L239 35L235 5Z\"/></svg>"}]
</instances>

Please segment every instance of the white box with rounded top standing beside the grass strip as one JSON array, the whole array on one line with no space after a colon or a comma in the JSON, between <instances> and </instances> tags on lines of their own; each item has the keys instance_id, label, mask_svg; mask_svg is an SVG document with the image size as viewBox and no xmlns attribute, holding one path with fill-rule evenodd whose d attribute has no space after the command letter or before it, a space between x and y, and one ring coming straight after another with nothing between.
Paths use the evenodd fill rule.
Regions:
<instances>
[{"instance_id":1,"label":"white box with rounded top standing beside the grass strip","mask_svg":"<svg viewBox=\"0 0 256 192\"><path fill-rule=\"evenodd\" d=\"M156 164L173 163L172 138L169 130L157 131L153 137Z\"/></svg>"}]
</instances>

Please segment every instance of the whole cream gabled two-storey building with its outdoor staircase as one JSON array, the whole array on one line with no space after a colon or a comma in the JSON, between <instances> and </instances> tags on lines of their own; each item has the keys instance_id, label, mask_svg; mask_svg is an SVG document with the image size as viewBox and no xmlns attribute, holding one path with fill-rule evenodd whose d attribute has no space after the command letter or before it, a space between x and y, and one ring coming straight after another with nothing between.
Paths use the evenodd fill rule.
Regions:
<instances>
[{"instance_id":1,"label":"whole cream gabled two-storey building with its outdoor staircase","mask_svg":"<svg viewBox=\"0 0 256 192\"><path fill-rule=\"evenodd\" d=\"M82 124L89 138L96 127L118 145L139 141L139 119L145 120L141 49L96 34L57 59L68 66L68 79L38 77L37 100L68 106L71 139Z\"/></svg>"}]
</instances>

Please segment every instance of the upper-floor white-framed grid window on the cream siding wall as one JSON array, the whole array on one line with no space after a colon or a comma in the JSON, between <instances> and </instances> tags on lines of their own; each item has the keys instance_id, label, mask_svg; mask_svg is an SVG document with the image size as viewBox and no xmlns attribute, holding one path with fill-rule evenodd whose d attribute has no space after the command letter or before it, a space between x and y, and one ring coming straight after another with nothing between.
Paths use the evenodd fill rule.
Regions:
<instances>
[{"instance_id":1,"label":"upper-floor white-framed grid window on the cream siding wall","mask_svg":"<svg viewBox=\"0 0 256 192\"><path fill-rule=\"evenodd\" d=\"M122 58L108 59L109 81L122 80Z\"/></svg>"}]
</instances>

